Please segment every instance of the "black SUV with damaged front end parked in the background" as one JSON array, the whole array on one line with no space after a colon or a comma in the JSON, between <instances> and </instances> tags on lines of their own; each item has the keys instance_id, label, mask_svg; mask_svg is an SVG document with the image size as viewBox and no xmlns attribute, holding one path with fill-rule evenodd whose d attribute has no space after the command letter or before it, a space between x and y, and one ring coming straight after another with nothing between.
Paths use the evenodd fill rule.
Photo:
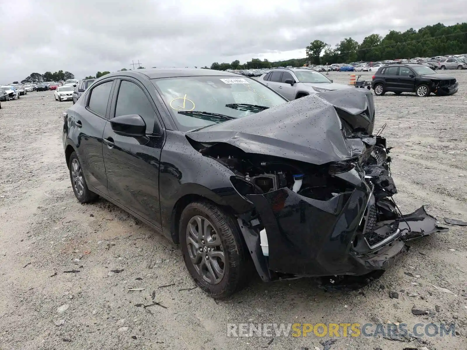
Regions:
<instances>
[{"instance_id":1,"label":"black SUV with damaged front end parked in the background","mask_svg":"<svg viewBox=\"0 0 467 350\"><path fill-rule=\"evenodd\" d=\"M437 96L453 95L459 90L459 83L454 77L438 74L421 64L390 64L379 69L371 83L376 96L391 91L400 95L403 92L415 92L418 97L430 93Z\"/></svg>"}]
</instances>

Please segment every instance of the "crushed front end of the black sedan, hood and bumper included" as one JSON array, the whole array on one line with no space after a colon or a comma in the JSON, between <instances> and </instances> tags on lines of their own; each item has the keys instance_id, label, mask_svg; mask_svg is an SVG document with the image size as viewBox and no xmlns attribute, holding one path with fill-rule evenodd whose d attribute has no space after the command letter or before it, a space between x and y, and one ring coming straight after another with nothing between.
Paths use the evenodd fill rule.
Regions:
<instances>
[{"instance_id":1,"label":"crushed front end of the black sedan, hood and bumper included","mask_svg":"<svg viewBox=\"0 0 467 350\"><path fill-rule=\"evenodd\" d=\"M233 188L252 204L238 222L263 280L366 275L394 263L405 241L446 230L423 207L402 215L393 201L390 148L373 134L371 92L320 93L286 110L295 111L286 124L276 107L232 133L221 123L187 135L232 171Z\"/></svg>"}]
</instances>

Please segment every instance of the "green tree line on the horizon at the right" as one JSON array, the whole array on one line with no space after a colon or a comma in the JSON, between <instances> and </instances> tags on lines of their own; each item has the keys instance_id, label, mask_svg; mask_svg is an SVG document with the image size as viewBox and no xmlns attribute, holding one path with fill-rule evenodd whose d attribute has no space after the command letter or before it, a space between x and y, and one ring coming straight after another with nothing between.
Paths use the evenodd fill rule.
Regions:
<instances>
[{"instance_id":1,"label":"green tree line on the horizon at the right","mask_svg":"<svg viewBox=\"0 0 467 350\"><path fill-rule=\"evenodd\" d=\"M432 57L453 54L467 54L467 22L453 26L438 23L415 30L410 28L405 32L390 30L382 37L371 34L361 43L351 37L344 38L334 47L321 40L313 40L305 48L306 57L285 61L269 62L253 58L246 63L235 60L232 63L214 62L214 70L226 69L260 69L271 67L303 66L307 62L312 64L376 62L393 60L396 58Z\"/></svg>"}]
</instances>

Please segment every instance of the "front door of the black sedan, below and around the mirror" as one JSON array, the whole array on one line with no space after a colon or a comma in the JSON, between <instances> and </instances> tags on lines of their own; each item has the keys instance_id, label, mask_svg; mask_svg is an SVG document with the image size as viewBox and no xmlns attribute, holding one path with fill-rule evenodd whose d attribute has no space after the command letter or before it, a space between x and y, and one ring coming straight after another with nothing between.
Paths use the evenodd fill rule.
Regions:
<instances>
[{"instance_id":1,"label":"front door of the black sedan, below and around the mirror","mask_svg":"<svg viewBox=\"0 0 467 350\"><path fill-rule=\"evenodd\" d=\"M161 227L159 165L164 138L156 106L138 81L126 77L119 83L113 94L111 118L140 115L146 123L146 136L118 135L113 132L110 121L107 122L103 153L109 196Z\"/></svg>"}]
</instances>

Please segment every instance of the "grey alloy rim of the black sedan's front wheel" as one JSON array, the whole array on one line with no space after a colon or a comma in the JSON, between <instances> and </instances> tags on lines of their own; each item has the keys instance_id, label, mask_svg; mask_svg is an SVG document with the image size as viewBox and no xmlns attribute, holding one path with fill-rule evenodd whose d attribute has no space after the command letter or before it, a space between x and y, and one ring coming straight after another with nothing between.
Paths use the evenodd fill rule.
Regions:
<instances>
[{"instance_id":1,"label":"grey alloy rim of the black sedan's front wheel","mask_svg":"<svg viewBox=\"0 0 467 350\"><path fill-rule=\"evenodd\" d=\"M205 217L196 215L186 227L186 245L191 263L210 284L218 284L225 274L226 257L220 237Z\"/></svg>"}]
</instances>

